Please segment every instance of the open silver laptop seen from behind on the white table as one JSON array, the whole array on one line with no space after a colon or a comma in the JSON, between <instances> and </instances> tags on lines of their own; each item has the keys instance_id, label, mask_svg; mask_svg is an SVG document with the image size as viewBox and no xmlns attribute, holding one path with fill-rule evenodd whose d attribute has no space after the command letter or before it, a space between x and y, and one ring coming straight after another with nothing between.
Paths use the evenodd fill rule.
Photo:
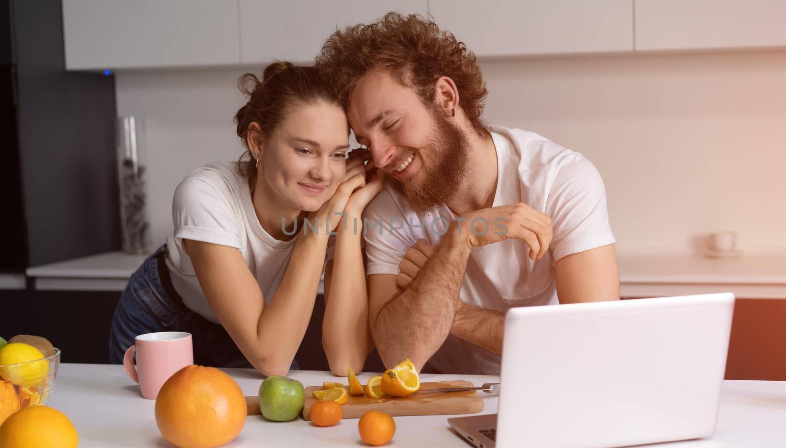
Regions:
<instances>
[{"instance_id":1,"label":"open silver laptop seen from behind on the white table","mask_svg":"<svg viewBox=\"0 0 786 448\"><path fill-rule=\"evenodd\" d=\"M510 308L497 414L450 418L475 446L593 448L715 432L734 295Z\"/></svg>"}]
</instances>

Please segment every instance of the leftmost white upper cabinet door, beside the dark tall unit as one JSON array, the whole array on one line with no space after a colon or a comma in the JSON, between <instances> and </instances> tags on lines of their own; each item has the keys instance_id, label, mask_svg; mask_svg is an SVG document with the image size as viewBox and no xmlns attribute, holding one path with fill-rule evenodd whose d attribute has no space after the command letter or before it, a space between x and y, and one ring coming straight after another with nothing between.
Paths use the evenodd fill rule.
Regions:
<instances>
[{"instance_id":1,"label":"leftmost white upper cabinet door, beside the dark tall unit","mask_svg":"<svg viewBox=\"0 0 786 448\"><path fill-rule=\"evenodd\" d=\"M239 64L236 0L63 0L65 67Z\"/></svg>"}]
</instances>

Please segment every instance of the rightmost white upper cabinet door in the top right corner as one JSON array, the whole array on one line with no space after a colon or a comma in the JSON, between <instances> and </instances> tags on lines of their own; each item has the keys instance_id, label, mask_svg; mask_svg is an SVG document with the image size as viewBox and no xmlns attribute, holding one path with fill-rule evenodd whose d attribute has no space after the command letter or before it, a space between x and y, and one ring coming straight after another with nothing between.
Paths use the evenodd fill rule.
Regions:
<instances>
[{"instance_id":1,"label":"rightmost white upper cabinet door in the top right corner","mask_svg":"<svg viewBox=\"0 0 786 448\"><path fill-rule=\"evenodd\" d=\"M635 0L636 49L786 46L786 0Z\"/></svg>"}]
</instances>

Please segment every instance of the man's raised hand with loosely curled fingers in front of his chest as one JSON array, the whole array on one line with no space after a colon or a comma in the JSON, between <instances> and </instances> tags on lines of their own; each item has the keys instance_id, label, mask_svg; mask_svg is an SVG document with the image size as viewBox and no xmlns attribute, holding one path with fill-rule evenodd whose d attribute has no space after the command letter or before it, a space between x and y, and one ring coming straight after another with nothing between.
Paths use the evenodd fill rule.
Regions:
<instances>
[{"instance_id":1,"label":"man's raised hand with loosely curled fingers in front of his chest","mask_svg":"<svg viewBox=\"0 0 786 448\"><path fill-rule=\"evenodd\" d=\"M553 238L551 217L523 202L465 213L457 221L457 231L466 235L470 247L520 239L530 247L532 260L545 255Z\"/></svg>"}]
</instances>

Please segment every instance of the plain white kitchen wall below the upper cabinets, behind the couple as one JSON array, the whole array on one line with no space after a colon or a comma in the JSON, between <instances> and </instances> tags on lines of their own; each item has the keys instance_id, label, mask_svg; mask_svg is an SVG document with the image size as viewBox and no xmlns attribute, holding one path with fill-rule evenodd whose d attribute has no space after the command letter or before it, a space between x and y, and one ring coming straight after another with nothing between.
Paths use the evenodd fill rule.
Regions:
<instances>
[{"instance_id":1,"label":"plain white kitchen wall below the upper cabinets, behind the couple","mask_svg":"<svg viewBox=\"0 0 786 448\"><path fill-rule=\"evenodd\" d=\"M786 51L560 56L481 64L484 117L582 152L601 171L620 251L687 252L736 230L786 250ZM145 120L152 237L191 169L233 160L242 70L116 75L119 115Z\"/></svg>"}]
</instances>

